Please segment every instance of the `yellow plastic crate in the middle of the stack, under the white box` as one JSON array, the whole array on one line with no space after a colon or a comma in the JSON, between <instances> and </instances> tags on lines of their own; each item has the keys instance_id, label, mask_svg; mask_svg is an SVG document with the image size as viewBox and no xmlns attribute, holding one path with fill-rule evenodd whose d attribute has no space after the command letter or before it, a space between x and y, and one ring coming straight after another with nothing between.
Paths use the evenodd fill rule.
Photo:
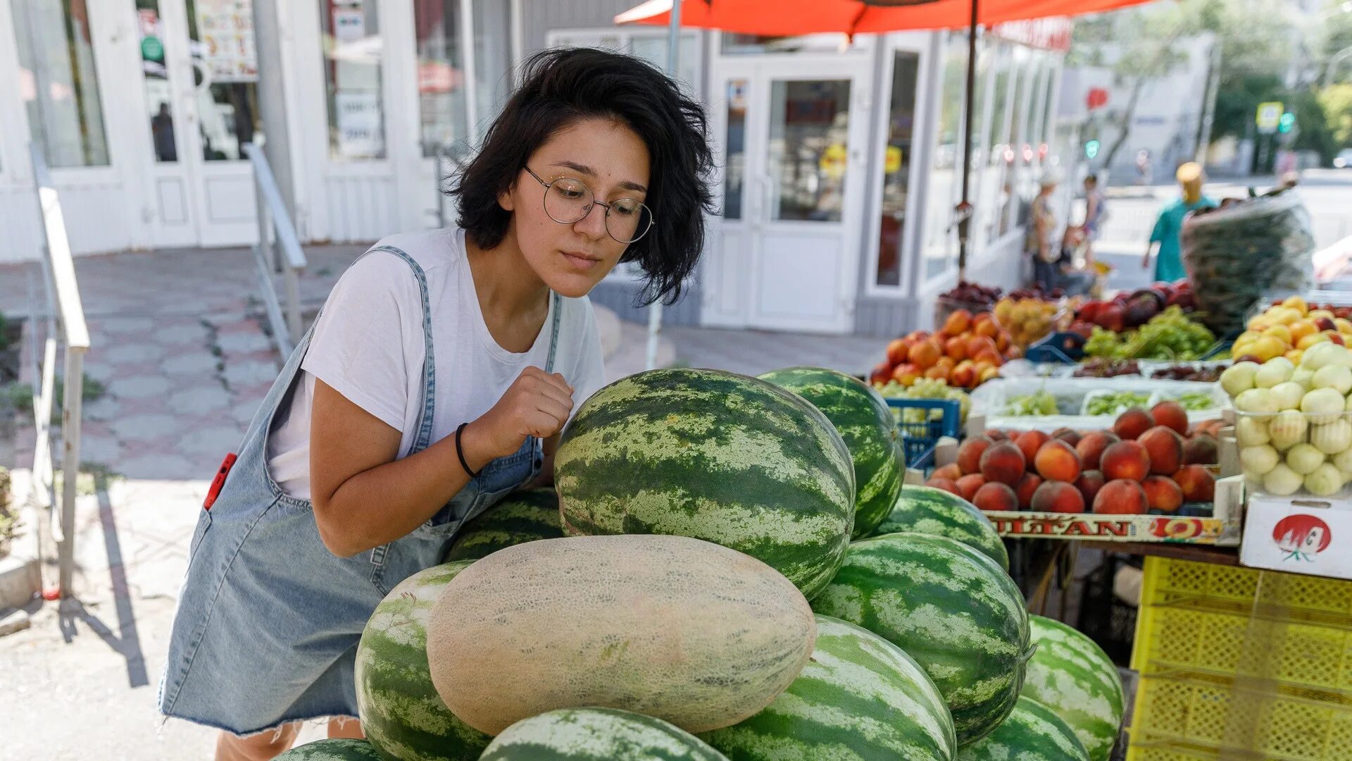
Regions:
<instances>
[{"instance_id":1,"label":"yellow plastic crate in the middle of the stack, under the white box","mask_svg":"<svg viewBox=\"0 0 1352 761\"><path fill-rule=\"evenodd\" d=\"M1352 697L1352 628L1149 605L1138 611L1132 668L1263 677Z\"/></svg>"}]
</instances>

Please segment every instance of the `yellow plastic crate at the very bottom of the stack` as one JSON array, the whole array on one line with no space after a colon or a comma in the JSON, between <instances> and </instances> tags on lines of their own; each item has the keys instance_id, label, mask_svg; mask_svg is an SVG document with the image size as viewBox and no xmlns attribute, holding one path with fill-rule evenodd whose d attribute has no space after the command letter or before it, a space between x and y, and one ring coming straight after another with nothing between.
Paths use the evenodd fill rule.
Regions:
<instances>
[{"instance_id":1,"label":"yellow plastic crate at the very bottom of the stack","mask_svg":"<svg viewBox=\"0 0 1352 761\"><path fill-rule=\"evenodd\" d=\"M1144 674L1128 761L1352 758L1352 705L1264 693L1232 680Z\"/></svg>"}]
</instances>

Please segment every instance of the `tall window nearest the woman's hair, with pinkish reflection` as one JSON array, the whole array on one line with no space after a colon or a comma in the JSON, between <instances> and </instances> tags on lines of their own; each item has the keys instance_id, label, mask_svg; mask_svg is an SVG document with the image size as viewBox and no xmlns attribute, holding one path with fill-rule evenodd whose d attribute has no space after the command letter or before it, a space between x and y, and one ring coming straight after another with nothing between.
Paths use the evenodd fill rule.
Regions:
<instances>
[{"instance_id":1,"label":"tall window nearest the woman's hair, with pinkish reflection","mask_svg":"<svg viewBox=\"0 0 1352 761\"><path fill-rule=\"evenodd\" d=\"M425 157L437 156L445 144L469 138L462 24L460 0L414 3L419 139Z\"/></svg>"}]
</instances>

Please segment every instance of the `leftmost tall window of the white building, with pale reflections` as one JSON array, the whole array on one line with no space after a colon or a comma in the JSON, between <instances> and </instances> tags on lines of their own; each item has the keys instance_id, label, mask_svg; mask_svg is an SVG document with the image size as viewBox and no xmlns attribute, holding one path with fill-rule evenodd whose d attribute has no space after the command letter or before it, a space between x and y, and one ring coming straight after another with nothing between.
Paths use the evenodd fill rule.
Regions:
<instances>
[{"instance_id":1,"label":"leftmost tall window of the white building, with pale reflections","mask_svg":"<svg viewBox=\"0 0 1352 761\"><path fill-rule=\"evenodd\" d=\"M49 167L107 167L85 0L12 0L19 93Z\"/></svg>"}]
</instances>

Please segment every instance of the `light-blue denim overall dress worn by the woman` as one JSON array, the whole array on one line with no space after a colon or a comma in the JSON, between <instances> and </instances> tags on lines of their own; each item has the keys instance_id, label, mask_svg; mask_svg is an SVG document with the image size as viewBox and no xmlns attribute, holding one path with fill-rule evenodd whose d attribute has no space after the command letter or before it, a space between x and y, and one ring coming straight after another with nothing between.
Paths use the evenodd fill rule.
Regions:
<instances>
[{"instance_id":1,"label":"light-blue denim overall dress worn by the woman","mask_svg":"<svg viewBox=\"0 0 1352 761\"><path fill-rule=\"evenodd\" d=\"M426 357L415 454L431 443L435 401L427 280L406 252L370 251L407 261L422 294ZM557 294L550 298L546 372L553 372L562 306ZM544 462L541 441L527 439L516 454L488 463L407 536L352 558L335 557L319 539L310 500L285 494L268 473L268 433L300 378L311 332L254 414L216 501L197 517L160 682L160 711L168 716L238 735L293 720L356 716L357 640L376 605L404 578L439 563L464 521L531 481Z\"/></svg>"}]
</instances>

